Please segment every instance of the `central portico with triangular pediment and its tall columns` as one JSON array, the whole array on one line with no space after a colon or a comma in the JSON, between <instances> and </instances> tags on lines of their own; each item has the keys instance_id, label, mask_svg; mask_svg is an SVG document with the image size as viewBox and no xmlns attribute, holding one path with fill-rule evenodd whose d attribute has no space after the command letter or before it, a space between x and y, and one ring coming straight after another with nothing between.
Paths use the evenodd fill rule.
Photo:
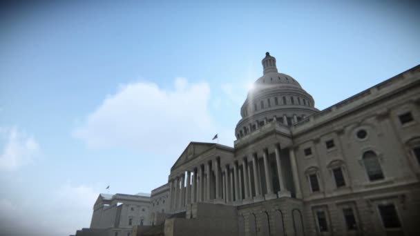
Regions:
<instances>
[{"instance_id":1,"label":"central portico with triangular pediment and its tall columns","mask_svg":"<svg viewBox=\"0 0 420 236\"><path fill-rule=\"evenodd\" d=\"M278 121L264 128L264 139L254 141L249 135L251 145L236 142L235 155L233 148L220 144L189 144L169 176L170 209L184 211L195 202L238 206L299 198L296 160L287 132L282 133L283 124ZM292 170L292 175L285 175L285 168Z\"/></svg>"}]
</instances>

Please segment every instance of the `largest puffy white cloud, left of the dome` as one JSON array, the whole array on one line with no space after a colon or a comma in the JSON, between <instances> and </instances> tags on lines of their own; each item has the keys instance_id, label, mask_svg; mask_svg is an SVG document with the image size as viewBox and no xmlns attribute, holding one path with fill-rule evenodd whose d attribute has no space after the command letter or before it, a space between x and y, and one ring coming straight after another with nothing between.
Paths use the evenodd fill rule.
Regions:
<instances>
[{"instance_id":1,"label":"largest puffy white cloud, left of the dome","mask_svg":"<svg viewBox=\"0 0 420 236\"><path fill-rule=\"evenodd\" d=\"M184 78L175 79L169 90L155 83L129 83L104 99L73 130L73 136L90 148L180 152L189 141L211 141L218 132L209 114L209 97L207 83L189 83ZM231 143L231 139L226 141Z\"/></svg>"}]
</instances>

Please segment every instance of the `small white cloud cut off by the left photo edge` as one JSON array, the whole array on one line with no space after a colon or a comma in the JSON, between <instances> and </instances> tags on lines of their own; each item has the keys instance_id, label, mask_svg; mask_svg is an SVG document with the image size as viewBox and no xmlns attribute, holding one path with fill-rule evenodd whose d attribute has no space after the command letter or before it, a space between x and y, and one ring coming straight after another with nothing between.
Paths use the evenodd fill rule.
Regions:
<instances>
[{"instance_id":1,"label":"small white cloud cut off by the left photo edge","mask_svg":"<svg viewBox=\"0 0 420 236\"><path fill-rule=\"evenodd\" d=\"M0 169L2 170L17 170L20 166L30 164L39 152L37 141L16 126L0 128L0 138L5 140L0 154Z\"/></svg>"}]
</instances>

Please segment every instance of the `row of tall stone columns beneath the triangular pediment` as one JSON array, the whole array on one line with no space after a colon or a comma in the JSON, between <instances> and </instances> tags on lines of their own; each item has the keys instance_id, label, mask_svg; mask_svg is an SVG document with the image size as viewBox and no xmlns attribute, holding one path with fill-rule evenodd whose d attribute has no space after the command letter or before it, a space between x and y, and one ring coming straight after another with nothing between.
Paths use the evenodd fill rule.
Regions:
<instances>
[{"instance_id":1,"label":"row of tall stone columns beneath the triangular pediment","mask_svg":"<svg viewBox=\"0 0 420 236\"><path fill-rule=\"evenodd\" d=\"M280 186L278 193L274 193L268 150L265 148L262 152L263 166L261 166L264 168L265 183L262 183L260 164L256 153L238 159L231 164L225 164L225 166L220 166L220 157L216 157L169 179L170 210L172 212L182 211L188 204L201 201L239 205L276 197L290 197L283 175L283 164L278 145L274 146L274 153L276 174ZM289 150L289 158L295 196L301 198L293 149ZM262 184L265 184L266 187L265 195L262 193Z\"/></svg>"}]
</instances>

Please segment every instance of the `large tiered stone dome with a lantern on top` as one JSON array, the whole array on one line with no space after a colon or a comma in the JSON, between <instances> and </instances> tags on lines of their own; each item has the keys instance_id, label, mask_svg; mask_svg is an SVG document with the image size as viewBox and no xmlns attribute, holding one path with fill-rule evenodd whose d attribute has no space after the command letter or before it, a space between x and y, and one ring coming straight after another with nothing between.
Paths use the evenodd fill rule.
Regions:
<instances>
[{"instance_id":1,"label":"large tiered stone dome with a lantern on top","mask_svg":"<svg viewBox=\"0 0 420 236\"><path fill-rule=\"evenodd\" d=\"M296 79L278 72L275 57L266 52L261 63L262 77L254 82L240 109L242 119L236 126L238 139L268 122L291 126L318 111L312 96Z\"/></svg>"}]
</instances>

